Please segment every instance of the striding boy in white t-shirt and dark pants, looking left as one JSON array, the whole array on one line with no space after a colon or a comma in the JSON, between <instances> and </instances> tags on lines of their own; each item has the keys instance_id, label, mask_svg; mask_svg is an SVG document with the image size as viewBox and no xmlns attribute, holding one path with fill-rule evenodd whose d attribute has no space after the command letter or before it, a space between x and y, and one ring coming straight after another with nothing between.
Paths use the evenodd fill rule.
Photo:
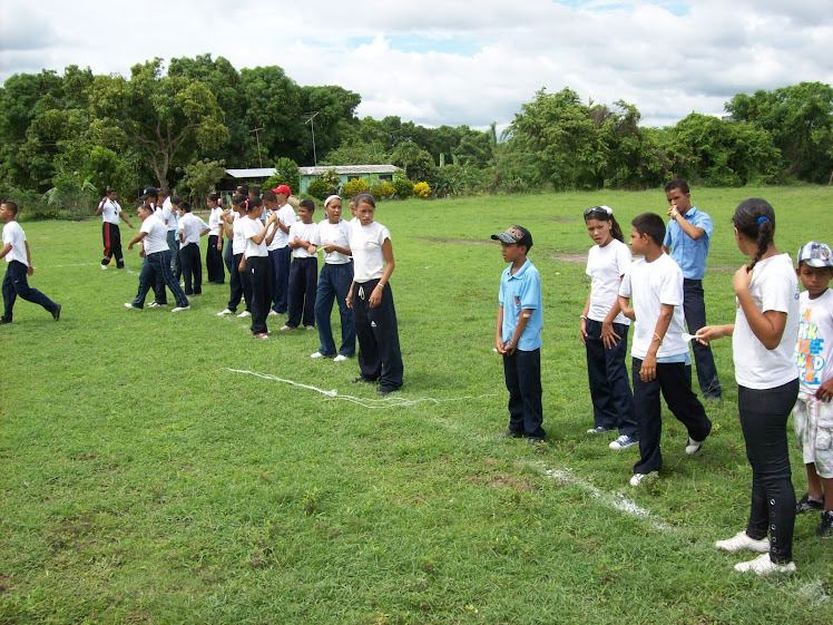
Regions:
<instances>
[{"instance_id":1,"label":"striding boy in white t-shirt and dark pants, looking left","mask_svg":"<svg viewBox=\"0 0 833 625\"><path fill-rule=\"evenodd\" d=\"M689 456L700 450L712 422L692 391L692 357L688 342L683 340L683 272L663 252L665 223L659 215L643 213L631 225L630 250L644 258L635 261L625 274L619 307L637 322L630 354L639 461L634 465L630 486L639 486L646 478L656 478L663 467L660 392L688 431L685 451Z\"/></svg>"}]
</instances>

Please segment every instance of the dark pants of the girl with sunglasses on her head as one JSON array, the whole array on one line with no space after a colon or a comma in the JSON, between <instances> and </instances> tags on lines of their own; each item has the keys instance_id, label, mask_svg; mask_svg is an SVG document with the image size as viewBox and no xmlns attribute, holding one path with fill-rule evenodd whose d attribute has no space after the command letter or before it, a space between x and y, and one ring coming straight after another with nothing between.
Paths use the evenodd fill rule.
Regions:
<instances>
[{"instance_id":1,"label":"dark pants of the girl with sunglasses on her head","mask_svg":"<svg viewBox=\"0 0 833 625\"><path fill-rule=\"evenodd\" d=\"M601 322L588 319L585 329L592 423L597 428L618 428L620 434L631 437L636 433L636 410L628 380L628 365L625 363L628 326L624 323L614 323L614 332L621 338L611 350L601 341Z\"/></svg>"}]
</instances>

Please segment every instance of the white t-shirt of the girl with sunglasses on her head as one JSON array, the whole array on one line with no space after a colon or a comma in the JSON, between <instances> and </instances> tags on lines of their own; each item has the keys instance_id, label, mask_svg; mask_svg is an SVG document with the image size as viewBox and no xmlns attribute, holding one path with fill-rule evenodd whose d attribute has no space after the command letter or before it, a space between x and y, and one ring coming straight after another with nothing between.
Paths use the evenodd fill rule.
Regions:
<instances>
[{"instance_id":1,"label":"white t-shirt of the girl with sunglasses on her head","mask_svg":"<svg viewBox=\"0 0 833 625\"><path fill-rule=\"evenodd\" d=\"M618 238L614 238L604 247L595 245L590 247L587 254L587 270L585 273L592 281L590 283L590 311L587 313L589 319L602 322L616 305L619 295L619 284L634 262L630 255L630 248ZM619 313L614 319L614 323L624 323L630 325L630 320Z\"/></svg>"}]
</instances>

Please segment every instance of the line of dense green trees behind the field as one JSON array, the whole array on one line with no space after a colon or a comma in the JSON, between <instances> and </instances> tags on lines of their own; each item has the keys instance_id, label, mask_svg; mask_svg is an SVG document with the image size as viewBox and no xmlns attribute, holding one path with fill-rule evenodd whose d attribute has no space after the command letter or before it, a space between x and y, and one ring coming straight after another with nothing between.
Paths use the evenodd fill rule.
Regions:
<instances>
[{"instance_id":1,"label":"line of dense green trees behind the field","mask_svg":"<svg viewBox=\"0 0 833 625\"><path fill-rule=\"evenodd\" d=\"M724 119L692 113L665 128L641 127L633 104L584 102L569 88L538 91L500 135L496 124L360 119L360 102L340 86L301 86L277 66L238 71L210 55L167 68L155 58L129 77L77 66L18 74L0 88L0 193L67 205L108 186L197 193L223 167L315 157L394 164L438 196L638 189L672 175L706 186L833 178L833 88L822 82L737 94Z\"/></svg>"}]
</instances>

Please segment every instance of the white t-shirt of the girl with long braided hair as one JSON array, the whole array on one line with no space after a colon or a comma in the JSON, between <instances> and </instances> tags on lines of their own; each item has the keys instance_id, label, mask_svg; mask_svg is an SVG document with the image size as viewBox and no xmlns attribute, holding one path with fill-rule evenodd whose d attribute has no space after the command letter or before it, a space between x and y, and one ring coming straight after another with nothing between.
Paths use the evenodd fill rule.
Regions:
<instances>
[{"instance_id":1,"label":"white t-shirt of the girl with long braided hair","mask_svg":"<svg viewBox=\"0 0 833 625\"><path fill-rule=\"evenodd\" d=\"M756 390L773 389L792 382L798 377L795 340L801 321L801 292L790 254L758 262L752 273L749 294L761 312L785 312L786 325L778 346L767 350L753 334L743 309L737 305L735 332L732 335L735 380L742 387Z\"/></svg>"}]
</instances>

